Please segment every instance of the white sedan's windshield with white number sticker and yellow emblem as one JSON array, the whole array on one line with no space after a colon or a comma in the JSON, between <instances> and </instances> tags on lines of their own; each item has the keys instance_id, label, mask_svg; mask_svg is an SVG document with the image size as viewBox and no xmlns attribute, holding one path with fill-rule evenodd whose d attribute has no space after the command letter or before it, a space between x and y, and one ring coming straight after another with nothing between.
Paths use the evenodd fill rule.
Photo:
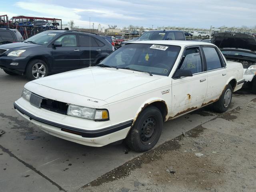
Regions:
<instances>
[{"instance_id":1,"label":"white sedan's windshield with white number sticker and yellow emblem","mask_svg":"<svg viewBox=\"0 0 256 192\"><path fill-rule=\"evenodd\" d=\"M99 65L168 76L179 52L180 46L127 44L110 54Z\"/></svg>"}]
</instances>

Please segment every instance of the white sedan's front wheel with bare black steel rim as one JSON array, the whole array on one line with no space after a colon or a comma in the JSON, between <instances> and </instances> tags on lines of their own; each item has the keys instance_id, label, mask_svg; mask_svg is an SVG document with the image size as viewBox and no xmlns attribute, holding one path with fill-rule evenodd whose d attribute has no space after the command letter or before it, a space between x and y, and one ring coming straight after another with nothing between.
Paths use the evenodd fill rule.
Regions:
<instances>
[{"instance_id":1,"label":"white sedan's front wheel with bare black steel rim","mask_svg":"<svg viewBox=\"0 0 256 192\"><path fill-rule=\"evenodd\" d=\"M129 148L144 152L153 148L162 133L163 117L154 106L144 109L132 126L125 141Z\"/></svg>"}]
</instances>

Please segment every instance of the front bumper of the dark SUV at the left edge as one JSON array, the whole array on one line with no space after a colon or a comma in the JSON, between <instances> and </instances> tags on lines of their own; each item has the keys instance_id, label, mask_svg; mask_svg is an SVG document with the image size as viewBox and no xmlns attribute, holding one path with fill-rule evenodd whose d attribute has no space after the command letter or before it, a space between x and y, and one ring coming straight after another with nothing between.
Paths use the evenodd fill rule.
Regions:
<instances>
[{"instance_id":1,"label":"front bumper of the dark SUV at the left edge","mask_svg":"<svg viewBox=\"0 0 256 192\"><path fill-rule=\"evenodd\" d=\"M2 56L0 57L0 68L22 74L25 72L27 62L27 57ZM18 66L10 65L11 63L18 63Z\"/></svg>"}]
</instances>

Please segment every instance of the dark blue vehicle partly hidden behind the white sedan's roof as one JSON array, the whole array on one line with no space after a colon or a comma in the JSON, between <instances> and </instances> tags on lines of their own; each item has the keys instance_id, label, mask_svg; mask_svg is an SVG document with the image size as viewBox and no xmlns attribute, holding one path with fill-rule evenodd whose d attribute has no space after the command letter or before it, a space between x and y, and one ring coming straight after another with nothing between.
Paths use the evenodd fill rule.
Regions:
<instances>
[{"instance_id":1,"label":"dark blue vehicle partly hidden behind the white sedan's roof","mask_svg":"<svg viewBox=\"0 0 256 192\"><path fill-rule=\"evenodd\" d=\"M145 32L140 38L136 40L129 40L122 42L122 46L127 42L142 41L142 40L184 40L186 36L183 31L174 30L152 30Z\"/></svg>"}]
</instances>

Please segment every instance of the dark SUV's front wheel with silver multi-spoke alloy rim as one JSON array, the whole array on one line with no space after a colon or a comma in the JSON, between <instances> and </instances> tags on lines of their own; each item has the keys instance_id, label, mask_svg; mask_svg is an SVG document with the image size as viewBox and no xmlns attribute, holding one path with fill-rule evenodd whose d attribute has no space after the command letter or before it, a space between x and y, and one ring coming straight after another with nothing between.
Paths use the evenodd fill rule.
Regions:
<instances>
[{"instance_id":1,"label":"dark SUV's front wheel with silver multi-spoke alloy rim","mask_svg":"<svg viewBox=\"0 0 256 192\"><path fill-rule=\"evenodd\" d=\"M36 68L36 64L37 64L38 68ZM43 65L43 67L41 68L42 69L41 70L40 67L42 65ZM38 69L40 69L40 70L38 70ZM33 73L32 71L38 71L38 72ZM43 60L40 60L40 59L32 60L26 66L25 74L29 80L35 80L38 78L45 77L48 75L48 66Z\"/></svg>"}]
</instances>

